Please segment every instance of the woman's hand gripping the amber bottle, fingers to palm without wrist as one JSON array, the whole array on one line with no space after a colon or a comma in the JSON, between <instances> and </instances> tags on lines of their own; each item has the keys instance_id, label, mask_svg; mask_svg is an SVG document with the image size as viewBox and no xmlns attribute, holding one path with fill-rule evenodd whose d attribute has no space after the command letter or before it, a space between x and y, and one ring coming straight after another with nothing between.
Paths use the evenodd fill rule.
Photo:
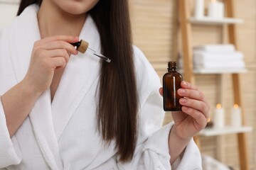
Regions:
<instances>
[{"instance_id":1,"label":"woman's hand gripping the amber bottle, fingers to palm without wrist","mask_svg":"<svg viewBox=\"0 0 256 170\"><path fill-rule=\"evenodd\" d=\"M162 93L162 88L159 90ZM186 81L181 82L178 95L182 111L171 112L176 133L181 139L189 139L206 127L209 118L210 105L204 94Z\"/></svg>"}]
</instances>

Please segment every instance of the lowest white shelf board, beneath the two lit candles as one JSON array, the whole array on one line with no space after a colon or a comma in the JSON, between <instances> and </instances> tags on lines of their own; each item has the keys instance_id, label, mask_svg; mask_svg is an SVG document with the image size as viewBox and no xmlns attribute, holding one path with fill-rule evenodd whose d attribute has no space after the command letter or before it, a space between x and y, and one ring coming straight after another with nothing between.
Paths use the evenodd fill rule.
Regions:
<instances>
[{"instance_id":1,"label":"lowest white shelf board, beneath the two lit candles","mask_svg":"<svg viewBox=\"0 0 256 170\"><path fill-rule=\"evenodd\" d=\"M225 128L205 128L199 134L201 136L216 136L216 135L226 135L233 133L241 133L241 132L252 132L252 127L242 126L242 127L231 127L226 126Z\"/></svg>"}]
</instances>

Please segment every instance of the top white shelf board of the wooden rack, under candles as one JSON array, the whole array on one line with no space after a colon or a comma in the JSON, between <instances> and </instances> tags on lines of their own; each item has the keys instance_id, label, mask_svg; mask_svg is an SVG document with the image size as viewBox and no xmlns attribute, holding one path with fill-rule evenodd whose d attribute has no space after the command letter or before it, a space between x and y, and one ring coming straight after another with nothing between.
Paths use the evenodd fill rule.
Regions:
<instances>
[{"instance_id":1,"label":"top white shelf board of the wooden rack, under candles","mask_svg":"<svg viewBox=\"0 0 256 170\"><path fill-rule=\"evenodd\" d=\"M205 24L205 25L222 25L222 24L233 24L233 23L242 23L242 19L239 18L191 18L191 23L194 24Z\"/></svg>"}]
</instances>

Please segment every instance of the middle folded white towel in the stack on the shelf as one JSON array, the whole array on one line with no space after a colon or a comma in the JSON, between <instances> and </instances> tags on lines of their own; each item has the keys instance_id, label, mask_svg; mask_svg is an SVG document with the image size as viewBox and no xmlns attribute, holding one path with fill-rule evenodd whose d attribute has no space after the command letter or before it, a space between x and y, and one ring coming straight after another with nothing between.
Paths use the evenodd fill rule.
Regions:
<instances>
[{"instance_id":1,"label":"middle folded white towel in the stack on the shelf","mask_svg":"<svg viewBox=\"0 0 256 170\"><path fill-rule=\"evenodd\" d=\"M205 52L205 51L194 51L193 60L197 61L240 61L244 55L242 52Z\"/></svg>"}]
</instances>

